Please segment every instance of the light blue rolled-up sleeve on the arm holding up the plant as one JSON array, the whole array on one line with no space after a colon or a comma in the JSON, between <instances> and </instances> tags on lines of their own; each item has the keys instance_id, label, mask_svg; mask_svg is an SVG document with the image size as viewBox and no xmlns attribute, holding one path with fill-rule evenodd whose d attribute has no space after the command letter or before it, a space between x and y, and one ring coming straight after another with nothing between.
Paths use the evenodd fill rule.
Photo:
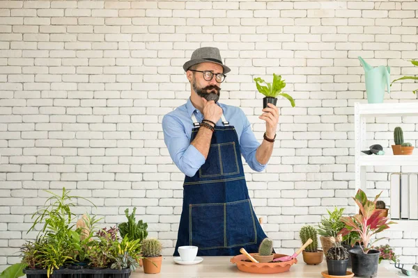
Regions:
<instances>
[{"instance_id":1,"label":"light blue rolled-up sleeve on the arm holding up the plant","mask_svg":"<svg viewBox=\"0 0 418 278\"><path fill-rule=\"evenodd\" d=\"M258 147L260 146L260 143L257 141L256 136L254 136L253 131L251 130L251 124L249 124L249 121L247 119L247 116L243 111L242 117L244 117L244 128L242 129L242 134L240 137L240 150L242 156L245 158L245 161L247 161L249 167L251 167L252 170L261 172L265 169L267 164L261 164L256 159L256 152Z\"/></svg>"}]
</instances>

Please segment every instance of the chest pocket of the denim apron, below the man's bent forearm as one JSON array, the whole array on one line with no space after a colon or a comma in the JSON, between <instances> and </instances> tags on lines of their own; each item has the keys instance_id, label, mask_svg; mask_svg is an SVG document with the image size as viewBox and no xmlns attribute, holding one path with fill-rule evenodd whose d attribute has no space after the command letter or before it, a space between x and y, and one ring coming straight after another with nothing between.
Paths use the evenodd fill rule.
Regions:
<instances>
[{"instance_id":1,"label":"chest pocket of the denim apron, below the man's bent forearm","mask_svg":"<svg viewBox=\"0 0 418 278\"><path fill-rule=\"evenodd\" d=\"M219 177L239 173L235 142L210 145L208 158L199 169L199 177Z\"/></svg>"}]
</instances>

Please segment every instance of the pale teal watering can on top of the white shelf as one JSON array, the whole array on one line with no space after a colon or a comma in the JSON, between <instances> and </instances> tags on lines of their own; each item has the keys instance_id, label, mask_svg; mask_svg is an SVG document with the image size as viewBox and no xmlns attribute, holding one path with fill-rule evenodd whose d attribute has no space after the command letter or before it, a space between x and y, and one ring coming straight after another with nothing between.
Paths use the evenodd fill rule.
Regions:
<instances>
[{"instance_id":1,"label":"pale teal watering can on top of the white shelf","mask_svg":"<svg viewBox=\"0 0 418 278\"><path fill-rule=\"evenodd\" d=\"M390 92L390 67L380 65L372 67L359 56L360 63L366 74L366 93L369 104L381 104L385 97L385 87Z\"/></svg>"}]
</instances>

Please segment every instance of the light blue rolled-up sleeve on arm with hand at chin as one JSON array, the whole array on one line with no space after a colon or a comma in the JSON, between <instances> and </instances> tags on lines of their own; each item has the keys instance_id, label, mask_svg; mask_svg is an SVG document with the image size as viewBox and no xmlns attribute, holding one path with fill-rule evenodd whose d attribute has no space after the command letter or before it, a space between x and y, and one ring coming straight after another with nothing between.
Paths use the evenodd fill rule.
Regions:
<instances>
[{"instance_id":1,"label":"light blue rolled-up sleeve on arm with hand at chin","mask_svg":"<svg viewBox=\"0 0 418 278\"><path fill-rule=\"evenodd\" d=\"M190 144L184 126L178 118L165 115L162 119L162 130L164 142L174 164L187 177L193 177L205 163L205 157Z\"/></svg>"}]
</instances>

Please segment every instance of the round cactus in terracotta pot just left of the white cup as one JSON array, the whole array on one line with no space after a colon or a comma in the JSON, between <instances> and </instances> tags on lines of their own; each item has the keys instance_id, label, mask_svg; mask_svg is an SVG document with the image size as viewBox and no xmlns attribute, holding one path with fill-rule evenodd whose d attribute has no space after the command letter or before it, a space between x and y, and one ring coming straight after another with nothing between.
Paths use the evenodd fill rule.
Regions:
<instances>
[{"instance_id":1,"label":"round cactus in terracotta pot just left of the white cup","mask_svg":"<svg viewBox=\"0 0 418 278\"><path fill-rule=\"evenodd\" d=\"M144 272L148 274L160 273L162 263L162 245L155 238L142 241L142 254L144 255Z\"/></svg>"}]
</instances>

